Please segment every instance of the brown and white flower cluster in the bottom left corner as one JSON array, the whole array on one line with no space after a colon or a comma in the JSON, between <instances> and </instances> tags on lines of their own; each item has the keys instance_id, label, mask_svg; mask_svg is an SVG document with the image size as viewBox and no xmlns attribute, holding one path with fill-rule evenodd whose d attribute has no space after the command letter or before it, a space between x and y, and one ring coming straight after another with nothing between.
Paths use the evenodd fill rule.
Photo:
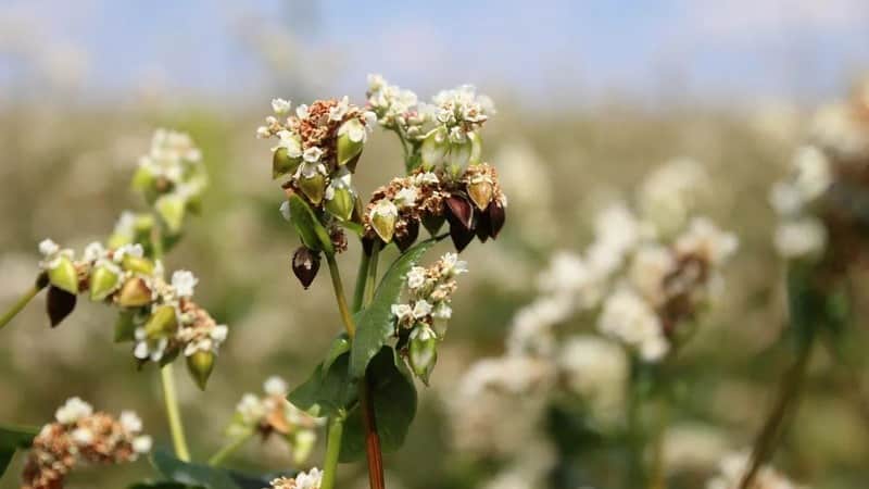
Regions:
<instances>
[{"instance_id":1,"label":"brown and white flower cluster in the bottom left corner","mask_svg":"<svg viewBox=\"0 0 869 489\"><path fill-rule=\"evenodd\" d=\"M72 398L58 409L55 418L34 439L23 489L61 488L76 464L119 464L151 451L151 438L141 435L142 422L131 411L114 418Z\"/></svg>"}]
</instances>

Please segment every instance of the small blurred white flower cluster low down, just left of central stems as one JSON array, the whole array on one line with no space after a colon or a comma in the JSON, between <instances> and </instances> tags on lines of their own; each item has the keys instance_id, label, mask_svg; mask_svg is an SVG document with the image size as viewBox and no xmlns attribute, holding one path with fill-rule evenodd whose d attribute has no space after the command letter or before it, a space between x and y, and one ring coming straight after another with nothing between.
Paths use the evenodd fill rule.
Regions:
<instances>
[{"instance_id":1,"label":"small blurred white flower cluster low down, just left of central stems","mask_svg":"<svg viewBox=\"0 0 869 489\"><path fill-rule=\"evenodd\" d=\"M236 414L227 428L229 438L247 437L259 432L263 438L272 434L284 437L292 448L297 464L304 462L317 440L315 428L323 419L301 411L287 401L289 388L280 377L269 377L263 385L265 396L245 393L236 406Z\"/></svg>"}]
</instances>

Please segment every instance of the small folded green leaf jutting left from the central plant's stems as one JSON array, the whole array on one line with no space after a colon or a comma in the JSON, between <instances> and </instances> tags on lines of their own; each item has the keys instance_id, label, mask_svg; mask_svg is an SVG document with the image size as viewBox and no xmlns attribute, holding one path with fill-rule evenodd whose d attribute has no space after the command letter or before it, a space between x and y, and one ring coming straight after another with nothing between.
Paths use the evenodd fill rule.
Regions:
<instances>
[{"instance_id":1,"label":"small folded green leaf jutting left from the central plant's stems","mask_svg":"<svg viewBox=\"0 0 869 489\"><path fill-rule=\"evenodd\" d=\"M356 383L348 374L350 353L343 352L329 362L317 365L304 384L293 389L287 400L297 408L311 411L319 406L319 415L332 415L345 410L356 396Z\"/></svg>"}]
</instances>

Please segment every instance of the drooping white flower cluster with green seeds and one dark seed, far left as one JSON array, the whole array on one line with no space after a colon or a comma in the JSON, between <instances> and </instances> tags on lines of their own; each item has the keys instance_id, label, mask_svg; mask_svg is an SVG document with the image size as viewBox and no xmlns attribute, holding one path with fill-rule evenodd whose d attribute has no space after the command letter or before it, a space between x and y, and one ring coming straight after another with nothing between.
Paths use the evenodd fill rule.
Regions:
<instances>
[{"instance_id":1,"label":"drooping white flower cluster with green seeds and one dark seed, far left","mask_svg":"<svg viewBox=\"0 0 869 489\"><path fill-rule=\"evenodd\" d=\"M39 266L50 284L52 326L72 312L76 294L88 292L92 301L121 310L116 339L135 340L137 360L164 363L182 353L204 388L228 329L191 300L199 281L192 273L177 271L166 281L162 263L144 258L140 244L112 249L92 242L76 259L73 250L46 239L39 251L45 256Z\"/></svg>"}]
</instances>

